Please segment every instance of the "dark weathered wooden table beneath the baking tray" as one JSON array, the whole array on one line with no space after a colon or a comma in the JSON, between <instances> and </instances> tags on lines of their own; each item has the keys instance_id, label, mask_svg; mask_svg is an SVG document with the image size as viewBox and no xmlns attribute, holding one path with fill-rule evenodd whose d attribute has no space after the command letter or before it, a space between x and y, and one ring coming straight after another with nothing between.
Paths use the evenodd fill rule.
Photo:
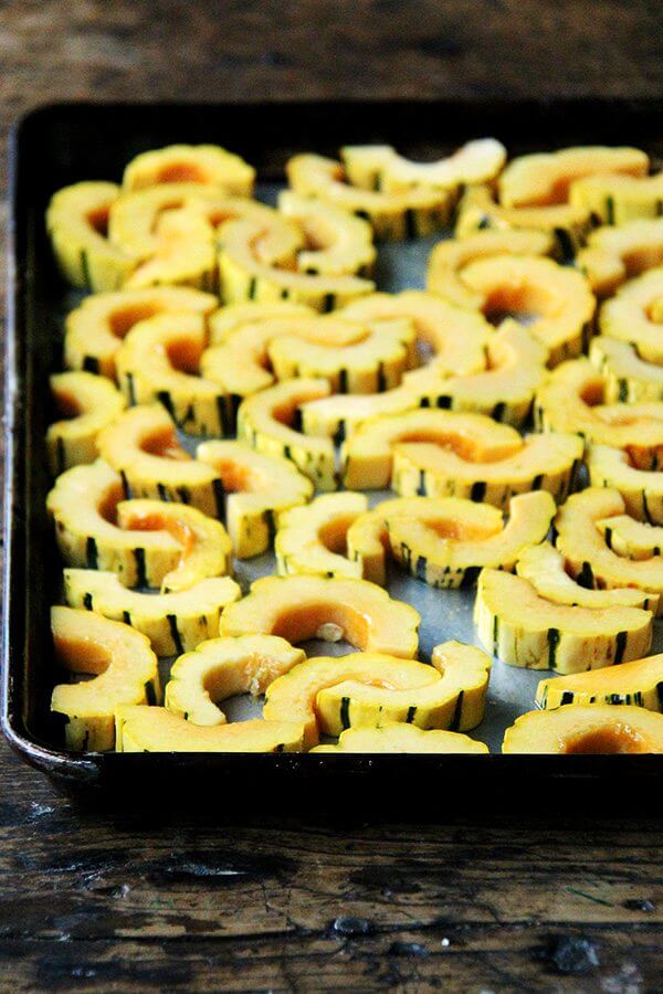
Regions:
<instances>
[{"instance_id":1,"label":"dark weathered wooden table beneath the baking tray","mask_svg":"<svg viewBox=\"0 0 663 994\"><path fill-rule=\"evenodd\" d=\"M660 36L633 0L20 0L0 128L54 98L652 96ZM82 812L4 747L0 776L2 990L661 988L660 822L628 796L233 823Z\"/></svg>"}]
</instances>

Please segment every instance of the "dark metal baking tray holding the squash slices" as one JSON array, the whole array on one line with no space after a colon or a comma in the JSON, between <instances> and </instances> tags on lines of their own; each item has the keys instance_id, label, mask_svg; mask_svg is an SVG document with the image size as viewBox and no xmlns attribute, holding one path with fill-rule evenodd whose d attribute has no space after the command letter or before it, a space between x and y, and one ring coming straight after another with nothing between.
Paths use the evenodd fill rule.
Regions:
<instances>
[{"instance_id":1,"label":"dark metal baking tray holding the squash slices","mask_svg":"<svg viewBox=\"0 0 663 994\"><path fill-rule=\"evenodd\" d=\"M49 712L54 663L49 606L56 600L61 563L44 501L51 486L44 433L50 417L48 376L61 368L60 322L67 294L59 279L44 232L43 213L57 188L82 179L119 179L134 155L173 141L217 141L257 167L263 184L283 179L286 159L295 151L336 155L349 142L396 145L413 158L444 155L469 138L493 135L509 154L572 144L631 144L663 157L661 108L654 102L571 101L548 103L286 103L251 105L93 105L43 107L23 118L13 131L10 151L10 278L6 335L6 477L4 575L2 591L2 728L12 747L60 786L98 794L120 791L157 796L167 790L191 795L210 782L246 793L327 801L377 797L387 785L428 783L422 803L433 807L430 778L438 791L453 782L456 794L483 795L507 789L557 786L568 796L575 786L586 792L608 779L628 778L632 791L653 794L651 778L663 771L656 755L503 757L476 755L335 755L302 754L114 754L76 755L62 751ZM269 189L269 187L263 187ZM381 288L399 288L389 273L421 260L421 246L388 246L382 254ZM397 263L394 266L393 263ZM411 281L410 281L411 283ZM71 295L69 295L71 303ZM265 564L240 564L250 580ZM407 590L403 584L407 584ZM472 641L466 594L440 598L418 581L396 581L396 596L412 601L425 618L445 612L431 625L428 642L449 637ZM461 600L462 599L462 600ZM657 626L656 626L657 627ZM660 633L657 639L660 641ZM509 700L511 668L496 664L498 677L492 705L506 709L502 725L532 706L541 674L516 672L527 689L517 705ZM506 683L505 683L506 681ZM503 690L502 686L507 687ZM513 713L508 712L512 709ZM515 708L515 709L514 709ZM488 712L490 713L490 712ZM506 721L504 718L506 717ZM473 734L495 743L496 729ZM428 780L427 780L428 778ZM217 792L214 792L217 793ZM225 794L228 796L228 794ZM423 813L423 812L422 812Z\"/></svg>"}]
</instances>

